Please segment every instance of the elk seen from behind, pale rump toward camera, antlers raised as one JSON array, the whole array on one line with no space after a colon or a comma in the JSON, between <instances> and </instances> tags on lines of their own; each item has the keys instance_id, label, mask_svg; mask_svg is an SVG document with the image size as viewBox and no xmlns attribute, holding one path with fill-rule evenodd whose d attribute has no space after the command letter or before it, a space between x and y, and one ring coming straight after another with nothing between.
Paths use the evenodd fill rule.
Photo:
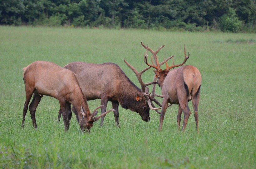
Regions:
<instances>
[{"instance_id":1,"label":"elk seen from behind, pale rump toward camera, antlers raised","mask_svg":"<svg viewBox=\"0 0 256 169\"><path fill-rule=\"evenodd\" d=\"M199 98L200 98L200 87L201 87L201 74L197 68L191 65L185 65L182 66L187 59L189 59L190 55L186 55L186 49L184 46L184 54L185 59L183 63L174 65L174 60L172 62L172 65L169 67L167 64L167 61L165 60L166 68L162 70L160 68L160 64L158 63L158 57L156 56L157 52L164 47L161 46L156 52L154 52L152 49L145 46L142 42L141 45L147 49L146 54L144 56L144 62L152 67L155 68L154 73L157 77L157 83L160 86L162 90L163 95L163 101L162 101L162 110L160 113L160 124L159 124L159 131L162 129L162 124L165 116L165 112L167 109L168 103L171 104L178 104L179 110L177 115L177 124L178 124L178 131L180 131L180 121L181 121L181 114L184 113L184 120L182 125L182 131L185 131L187 121L189 119L189 116L191 114L188 102L192 100L192 104L194 107L194 119L196 122L196 130L197 134L199 134L198 129L198 104L199 104ZM147 61L147 51L150 51L153 54L155 64L152 62L152 64L149 64ZM173 59L174 55L170 58ZM168 58L168 59L170 59ZM151 58L152 60L152 58ZM179 67L180 68L175 68ZM172 69L175 68L175 69Z\"/></svg>"}]
</instances>

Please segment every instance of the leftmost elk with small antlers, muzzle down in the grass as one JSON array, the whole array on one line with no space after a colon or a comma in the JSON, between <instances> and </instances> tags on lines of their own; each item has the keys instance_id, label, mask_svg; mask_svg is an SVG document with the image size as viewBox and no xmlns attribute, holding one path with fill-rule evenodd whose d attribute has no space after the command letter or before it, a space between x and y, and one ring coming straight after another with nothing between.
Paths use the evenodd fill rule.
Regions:
<instances>
[{"instance_id":1,"label":"leftmost elk with small antlers, muzzle down in the grass","mask_svg":"<svg viewBox=\"0 0 256 169\"><path fill-rule=\"evenodd\" d=\"M90 132L93 122L100 119L108 112L115 112L115 110L110 109L100 116L95 117L97 114L96 110L101 108L102 105L98 106L93 113L91 113L87 105L86 97L81 92L76 75L55 63L35 61L23 68L23 70L26 101L23 108L22 128L24 128L28 104L33 94L34 96L29 105L29 111L34 128L37 128L36 109L43 95L58 99L63 115L65 131L69 129L72 116L71 105L77 110L74 113L83 132Z\"/></svg>"}]
</instances>

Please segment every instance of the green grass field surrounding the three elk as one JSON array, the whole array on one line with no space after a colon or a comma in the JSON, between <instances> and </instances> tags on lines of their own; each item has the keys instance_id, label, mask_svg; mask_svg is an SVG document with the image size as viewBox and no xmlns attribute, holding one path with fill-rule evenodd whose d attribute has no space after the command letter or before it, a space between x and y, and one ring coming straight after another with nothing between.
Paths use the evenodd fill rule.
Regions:
<instances>
[{"instance_id":1,"label":"green grass field surrounding the three elk","mask_svg":"<svg viewBox=\"0 0 256 169\"><path fill-rule=\"evenodd\" d=\"M255 168L256 34L0 26L0 39L1 168ZM176 64L186 45L186 64L202 74L199 135L193 111L185 132L177 132L177 105L167 109L161 132L159 114L150 110L147 123L120 107L120 128L110 113L103 127L97 121L82 134L73 114L65 133L63 121L57 123L59 103L48 96L37 108L38 128L28 112L21 129L23 67L36 60L113 62L139 86L123 59L139 71L146 67L140 41L153 50L165 45L159 60L174 54ZM143 79L153 76L149 70ZM100 100L88 104L93 110Z\"/></svg>"}]
</instances>

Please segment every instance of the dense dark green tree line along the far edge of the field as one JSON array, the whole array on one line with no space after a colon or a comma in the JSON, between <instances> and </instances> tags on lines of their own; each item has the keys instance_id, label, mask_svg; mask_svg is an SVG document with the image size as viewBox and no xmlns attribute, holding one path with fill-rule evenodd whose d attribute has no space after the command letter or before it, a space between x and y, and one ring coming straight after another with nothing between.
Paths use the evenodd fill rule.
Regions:
<instances>
[{"instance_id":1,"label":"dense dark green tree line along the far edge of the field","mask_svg":"<svg viewBox=\"0 0 256 169\"><path fill-rule=\"evenodd\" d=\"M256 1L2 0L0 24L255 32Z\"/></svg>"}]
</instances>

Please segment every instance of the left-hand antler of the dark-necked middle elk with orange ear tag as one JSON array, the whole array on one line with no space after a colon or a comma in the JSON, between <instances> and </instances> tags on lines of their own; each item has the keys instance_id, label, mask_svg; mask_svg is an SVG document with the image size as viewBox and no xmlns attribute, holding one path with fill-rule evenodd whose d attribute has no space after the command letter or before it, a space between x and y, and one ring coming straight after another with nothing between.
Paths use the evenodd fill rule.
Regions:
<instances>
[{"instance_id":1,"label":"left-hand antler of the dark-necked middle elk with orange ear tag","mask_svg":"<svg viewBox=\"0 0 256 169\"><path fill-rule=\"evenodd\" d=\"M149 85L151 85L151 84L156 84L157 82L149 82L149 83L146 83L146 84L145 84L145 83L142 82L142 79L141 79L142 73L144 73L146 70L150 69L150 67L147 67L147 68L143 69L143 70L139 73L132 65L130 65L128 62L126 62L125 59L124 59L124 61L125 61L125 63L127 64L127 66L135 73L137 79L139 80L140 86L141 86L142 95L144 96L145 100L148 102L148 105L149 105L150 109L152 109L152 110L161 109L161 107L160 107L160 108L154 108L154 107L151 106L151 101L150 101L150 98L149 98L149 96L148 96L148 95L150 95L151 93L146 93L146 92L145 92L145 88L146 88L147 86L149 86Z\"/></svg>"}]
</instances>

